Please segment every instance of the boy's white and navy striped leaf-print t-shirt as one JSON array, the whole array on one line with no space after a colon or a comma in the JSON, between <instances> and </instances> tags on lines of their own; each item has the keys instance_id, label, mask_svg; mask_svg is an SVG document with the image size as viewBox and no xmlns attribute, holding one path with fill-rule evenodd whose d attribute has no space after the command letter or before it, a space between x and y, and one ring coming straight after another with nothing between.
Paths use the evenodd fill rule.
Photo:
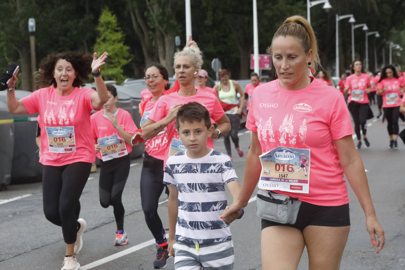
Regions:
<instances>
[{"instance_id":1,"label":"boy's white and navy striped leaf-print t-shirt","mask_svg":"<svg viewBox=\"0 0 405 270\"><path fill-rule=\"evenodd\" d=\"M211 243L231 240L229 224L220 215L227 205L225 185L239 181L228 155L211 149L192 159L186 151L171 155L163 183L177 187L178 216L175 240Z\"/></svg>"}]
</instances>

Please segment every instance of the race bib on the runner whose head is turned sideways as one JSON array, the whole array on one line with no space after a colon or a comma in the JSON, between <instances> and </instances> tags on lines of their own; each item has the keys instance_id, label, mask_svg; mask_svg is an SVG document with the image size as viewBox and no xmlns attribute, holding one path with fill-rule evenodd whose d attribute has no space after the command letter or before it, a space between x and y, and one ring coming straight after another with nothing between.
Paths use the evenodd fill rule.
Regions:
<instances>
[{"instance_id":1,"label":"race bib on the runner whose head is turned sideways","mask_svg":"<svg viewBox=\"0 0 405 270\"><path fill-rule=\"evenodd\" d=\"M128 155L125 141L118 135L111 135L97 139L97 143L100 145L102 161Z\"/></svg>"}]
</instances>

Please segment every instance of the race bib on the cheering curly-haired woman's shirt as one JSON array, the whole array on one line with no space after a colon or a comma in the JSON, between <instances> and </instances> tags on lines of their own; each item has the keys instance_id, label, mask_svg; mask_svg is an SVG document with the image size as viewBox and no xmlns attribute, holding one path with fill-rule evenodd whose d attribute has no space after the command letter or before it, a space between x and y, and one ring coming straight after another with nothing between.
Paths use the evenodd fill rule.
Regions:
<instances>
[{"instance_id":1,"label":"race bib on the cheering curly-haired woman's shirt","mask_svg":"<svg viewBox=\"0 0 405 270\"><path fill-rule=\"evenodd\" d=\"M48 135L49 152L72 153L76 151L75 128L45 127Z\"/></svg>"}]
</instances>

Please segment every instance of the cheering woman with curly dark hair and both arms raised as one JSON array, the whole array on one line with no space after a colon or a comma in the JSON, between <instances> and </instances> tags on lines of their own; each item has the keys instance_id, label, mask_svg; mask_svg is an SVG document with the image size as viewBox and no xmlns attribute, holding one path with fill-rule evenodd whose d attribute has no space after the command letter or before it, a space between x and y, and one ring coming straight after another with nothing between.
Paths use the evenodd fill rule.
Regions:
<instances>
[{"instance_id":1,"label":"cheering woman with curly dark hair and both arms raised","mask_svg":"<svg viewBox=\"0 0 405 270\"><path fill-rule=\"evenodd\" d=\"M15 83L7 92L7 110L26 114L39 112L43 169L43 207L45 217L62 227L66 256L62 270L79 269L77 254L86 228L79 219L79 198L95 162L96 153L90 130L90 113L107 102L107 87L100 76L107 53L97 58L79 51L49 54L41 61L40 80L50 87L40 88L17 100ZM94 76L97 91L83 86L83 80Z\"/></svg>"}]
</instances>

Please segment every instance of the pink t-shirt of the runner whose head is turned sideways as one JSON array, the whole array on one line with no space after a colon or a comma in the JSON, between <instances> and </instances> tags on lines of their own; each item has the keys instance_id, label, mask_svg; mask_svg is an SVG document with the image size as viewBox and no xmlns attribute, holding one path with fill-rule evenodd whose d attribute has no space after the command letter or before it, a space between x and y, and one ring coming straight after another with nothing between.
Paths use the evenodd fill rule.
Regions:
<instances>
[{"instance_id":1,"label":"pink t-shirt of the runner whose head is turned sideways","mask_svg":"<svg viewBox=\"0 0 405 270\"><path fill-rule=\"evenodd\" d=\"M103 110L98 111L97 113L92 114L90 117L90 121L92 124L92 134L94 139L100 139L104 138L107 136L111 135L118 135L119 138L124 140L122 136L119 134L119 132L113 127L113 124L111 123L109 118L104 117L103 115ZM132 120L132 116L128 111L125 111L121 108L118 108L117 115L115 115L118 121L118 125L125 131L130 134L134 134L136 128L136 125L134 123L134 120ZM93 142L95 143L95 142ZM125 142L126 149L128 151L128 154L132 152L132 146L128 144L128 142ZM101 153L98 152L97 157L101 159Z\"/></svg>"}]
</instances>

